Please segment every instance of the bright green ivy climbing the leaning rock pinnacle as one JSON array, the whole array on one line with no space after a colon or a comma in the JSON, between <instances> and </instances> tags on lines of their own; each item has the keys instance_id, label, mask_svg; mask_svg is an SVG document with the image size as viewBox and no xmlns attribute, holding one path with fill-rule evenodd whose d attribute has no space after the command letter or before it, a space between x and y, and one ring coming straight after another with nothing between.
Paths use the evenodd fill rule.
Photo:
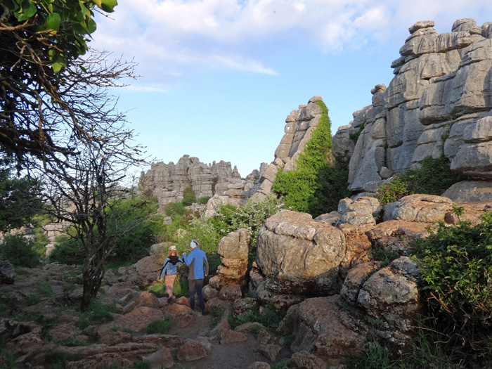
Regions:
<instances>
[{"instance_id":1,"label":"bright green ivy climbing the leaning rock pinnacle","mask_svg":"<svg viewBox=\"0 0 492 369\"><path fill-rule=\"evenodd\" d=\"M283 197L285 207L318 216L337 209L338 201L348 195L347 164L333 165L328 108L322 101L318 127L299 155L292 171L279 170L272 190Z\"/></svg>"}]
</instances>

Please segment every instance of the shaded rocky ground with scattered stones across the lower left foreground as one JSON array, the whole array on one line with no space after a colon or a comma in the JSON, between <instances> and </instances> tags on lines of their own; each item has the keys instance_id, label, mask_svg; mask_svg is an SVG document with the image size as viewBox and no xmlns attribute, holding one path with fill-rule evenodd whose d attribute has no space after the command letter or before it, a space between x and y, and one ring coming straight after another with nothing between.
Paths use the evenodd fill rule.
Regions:
<instances>
[{"instance_id":1,"label":"shaded rocky ground with scattered stones across the lower left foreground","mask_svg":"<svg viewBox=\"0 0 492 369\"><path fill-rule=\"evenodd\" d=\"M256 329L248 329L252 323L246 323L233 330L226 313L221 319L210 312L196 315L186 306L186 299L169 305L165 298L124 289L124 283L107 284L98 300L124 306L124 300L133 296L130 301L134 306L127 311L127 306L123 311L120 307L112 321L92 322L81 328L77 299L71 297L80 292L76 282L77 273L70 267L51 265L20 270L13 285L0 285L0 302L6 308L0 311L0 338L6 342L0 347L0 368L50 368L53 354L64 355L66 368L133 368L134 361L148 361L150 356L159 356L157 352L162 361L154 362L152 368L164 364L165 368L177 369L239 369L255 362L273 366L292 355L282 337L258 323L254 323ZM34 295L39 301L25 306ZM150 322L167 316L173 324L165 335L145 332ZM184 350L190 341L200 342L206 356L195 359L193 348Z\"/></svg>"}]
</instances>

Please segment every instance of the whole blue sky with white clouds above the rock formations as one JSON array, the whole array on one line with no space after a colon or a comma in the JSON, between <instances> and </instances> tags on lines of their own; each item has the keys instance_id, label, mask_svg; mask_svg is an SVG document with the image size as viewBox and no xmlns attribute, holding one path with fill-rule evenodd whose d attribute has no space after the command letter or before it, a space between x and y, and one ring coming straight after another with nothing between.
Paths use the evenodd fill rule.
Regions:
<instances>
[{"instance_id":1,"label":"whole blue sky with white clouds above the rock formations","mask_svg":"<svg viewBox=\"0 0 492 369\"><path fill-rule=\"evenodd\" d=\"M388 86L411 25L459 18L492 21L490 0L119 0L92 46L138 63L114 93L154 161L225 160L244 177L300 104L322 96L335 134Z\"/></svg>"}]
</instances>

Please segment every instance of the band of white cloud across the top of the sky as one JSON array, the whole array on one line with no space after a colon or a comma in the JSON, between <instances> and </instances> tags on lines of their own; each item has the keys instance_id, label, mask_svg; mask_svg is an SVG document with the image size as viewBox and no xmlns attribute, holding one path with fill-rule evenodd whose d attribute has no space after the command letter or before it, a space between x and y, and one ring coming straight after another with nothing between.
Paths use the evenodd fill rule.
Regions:
<instances>
[{"instance_id":1,"label":"band of white cloud across the top of the sky","mask_svg":"<svg viewBox=\"0 0 492 369\"><path fill-rule=\"evenodd\" d=\"M446 27L441 32L448 32L458 18L474 14L492 18L488 2L119 0L111 15L114 20L98 18L94 38L96 48L135 56L139 73L145 76L138 82L145 84L142 89L164 91L186 73L200 70L228 68L276 75L275 65L254 53L266 41L289 44L287 37L302 34L305 47L325 52L401 44L417 20L436 20L436 28Z\"/></svg>"}]
</instances>

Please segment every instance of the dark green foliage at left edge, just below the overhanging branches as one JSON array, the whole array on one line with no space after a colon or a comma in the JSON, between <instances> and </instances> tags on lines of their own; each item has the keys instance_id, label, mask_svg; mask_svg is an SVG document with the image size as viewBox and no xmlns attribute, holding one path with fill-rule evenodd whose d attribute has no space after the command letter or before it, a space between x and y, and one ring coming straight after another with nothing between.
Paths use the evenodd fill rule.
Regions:
<instances>
[{"instance_id":1,"label":"dark green foliage at left edge, just below the overhanging branches","mask_svg":"<svg viewBox=\"0 0 492 369\"><path fill-rule=\"evenodd\" d=\"M12 160L0 158L0 231L6 232L30 223L43 210L39 200L41 183L16 176Z\"/></svg>"}]
</instances>

